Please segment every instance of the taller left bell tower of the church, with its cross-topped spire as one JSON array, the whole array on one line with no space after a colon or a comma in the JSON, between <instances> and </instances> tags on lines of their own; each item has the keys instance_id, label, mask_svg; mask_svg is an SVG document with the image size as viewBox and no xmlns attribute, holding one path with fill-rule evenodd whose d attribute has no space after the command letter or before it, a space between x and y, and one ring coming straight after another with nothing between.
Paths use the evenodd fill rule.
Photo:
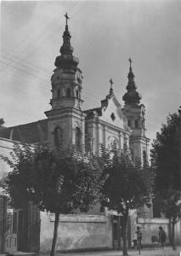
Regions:
<instances>
[{"instance_id":1,"label":"taller left bell tower of the church, with its cross-topped spire","mask_svg":"<svg viewBox=\"0 0 181 256\"><path fill-rule=\"evenodd\" d=\"M79 60L73 55L71 33L68 28L69 17L65 14L65 32L60 55L54 62L54 74L51 78L51 110L45 112L48 117L48 144L59 149L69 143L80 147L84 144L85 114L82 113L82 71Z\"/></svg>"}]
</instances>

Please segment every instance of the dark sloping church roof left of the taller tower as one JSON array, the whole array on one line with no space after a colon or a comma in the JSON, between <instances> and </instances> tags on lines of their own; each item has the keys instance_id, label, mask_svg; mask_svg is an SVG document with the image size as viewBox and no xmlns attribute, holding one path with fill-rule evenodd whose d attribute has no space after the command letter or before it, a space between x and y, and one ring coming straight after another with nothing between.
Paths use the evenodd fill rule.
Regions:
<instances>
[{"instance_id":1,"label":"dark sloping church roof left of the taller tower","mask_svg":"<svg viewBox=\"0 0 181 256\"><path fill-rule=\"evenodd\" d=\"M2 126L0 127L0 137L21 143L46 142L48 140L48 119L12 127Z\"/></svg>"}]
</instances>

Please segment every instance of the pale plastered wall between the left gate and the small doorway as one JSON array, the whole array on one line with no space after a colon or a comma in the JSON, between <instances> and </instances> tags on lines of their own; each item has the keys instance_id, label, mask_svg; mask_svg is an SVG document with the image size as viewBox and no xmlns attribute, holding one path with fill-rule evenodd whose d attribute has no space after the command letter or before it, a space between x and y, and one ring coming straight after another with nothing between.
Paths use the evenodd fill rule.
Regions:
<instances>
[{"instance_id":1,"label":"pale plastered wall between the left gate and the small doorway","mask_svg":"<svg viewBox=\"0 0 181 256\"><path fill-rule=\"evenodd\" d=\"M40 251L51 249L54 214L41 212ZM60 215L56 250L111 248L110 217L104 215Z\"/></svg>"}]
</instances>

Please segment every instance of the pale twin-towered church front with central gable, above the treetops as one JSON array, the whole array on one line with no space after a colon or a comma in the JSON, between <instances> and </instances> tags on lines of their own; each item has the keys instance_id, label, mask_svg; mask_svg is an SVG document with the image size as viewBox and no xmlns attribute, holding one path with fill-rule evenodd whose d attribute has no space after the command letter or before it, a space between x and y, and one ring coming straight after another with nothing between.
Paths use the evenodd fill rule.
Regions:
<instances>
[{"instance_id":1,"label":"pale twin-towered church front with central gable, above the treetops","mask_svg":"<svg viewBox=\"0 0 181 256\"><path fill-rule=\"evenodd\" d=\"M116 99L110 79L110 92L100 106L82 111L83 76L77 67L79 61L73 55L67 24L59 52L51 78L52 109L45 112L48 117L48 143L59 147L56 139L59 132L63 146L67 143L76 144L77 147L82 144L87 151L92 148L93 154L99 154L101 143L106 146L116 141L119 148L123 148L123 143L129 144L133 159L143 159L148 154L150 140L145 136L145 108L139 104L141 96L134 82L131 59L127 93L122 97L124 108Z\"/></svg>"}]
</instances>

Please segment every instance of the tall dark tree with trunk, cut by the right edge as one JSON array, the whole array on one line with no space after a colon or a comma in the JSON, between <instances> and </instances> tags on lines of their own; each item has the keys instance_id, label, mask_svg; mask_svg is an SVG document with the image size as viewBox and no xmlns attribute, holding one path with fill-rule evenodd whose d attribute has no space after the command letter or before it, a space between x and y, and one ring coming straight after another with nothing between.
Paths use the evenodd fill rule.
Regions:
<instances>
[{"instance_id":1,"label":"tall dark tree with trunk, cut by the right edge","mask_svg":"<svg viewBox=\"0 0 181 256\"><path fill-rule=\"evenodd\" d=\"M169 114L167 124L156 133L151 150L152 166L156 172L156 196L161 199L161 212L172 225L173 249L176 248L174 227L181 218L179 122L177 113Z\"/></svg>"}]
</instances>

